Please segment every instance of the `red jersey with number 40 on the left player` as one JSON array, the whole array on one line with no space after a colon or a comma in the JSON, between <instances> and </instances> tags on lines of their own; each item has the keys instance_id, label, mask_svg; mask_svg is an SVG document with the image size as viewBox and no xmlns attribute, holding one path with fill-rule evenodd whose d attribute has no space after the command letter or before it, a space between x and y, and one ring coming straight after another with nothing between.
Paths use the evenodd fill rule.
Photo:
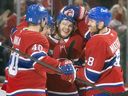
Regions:
<instances>
[{"instance_id":1,"label":"red jersey with number 40 on the left player","mask_svg":"<svg viewBox=\"0 0 128 96\"><path fill-rule=\"evenodd\" d=\"M47 55L49 43L39 32L17 30L12 36L13 48L53 67L59 62ZM6 68L8 96L45 96L46 72L53 72L37 62L12 52Z\"/></svg>"}]
</instances>

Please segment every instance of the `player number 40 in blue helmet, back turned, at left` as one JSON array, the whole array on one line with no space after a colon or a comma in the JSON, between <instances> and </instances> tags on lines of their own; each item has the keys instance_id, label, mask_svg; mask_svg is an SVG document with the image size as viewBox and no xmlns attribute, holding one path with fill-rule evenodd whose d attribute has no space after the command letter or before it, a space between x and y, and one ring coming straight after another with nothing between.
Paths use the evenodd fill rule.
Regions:
<instances>
[{"instance_id":1,"label":"player number 40 in blue helmet, back turned, at left","mask_svg":"<svg viewBox=\"0 0 128 96\"><path fill-rule=\"evenodd\" d=\"M60 62L47 55L49 43L45 34L41 34L47 24L47 17L48 12L43 6L38 4L29 6L26 12L28 26L19 28L13 33L13 48L58 68L64 73L61 75L64 80L73 82L75 70L72 62L70 60ZM46 96L46 72L56 73L29 58L12 52L6 68L7 96Z\"/></svg>"}]
</instances>

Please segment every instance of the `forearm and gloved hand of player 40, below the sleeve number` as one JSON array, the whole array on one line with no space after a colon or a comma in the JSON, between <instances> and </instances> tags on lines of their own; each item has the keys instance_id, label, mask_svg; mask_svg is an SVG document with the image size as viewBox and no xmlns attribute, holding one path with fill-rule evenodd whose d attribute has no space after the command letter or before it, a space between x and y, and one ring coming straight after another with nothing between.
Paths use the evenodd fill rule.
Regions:
<instances>
[{"instance_id":1,"label":"forearm and gloved hand of player 40, below the sleeve number","mask_svg":"<svg viewBox=\"0 0 128 96\"><path fill-rule=\"evenodd\" d=\"M40 53L35 54L35 55L39 56L38 60L40 60L54 68L59 69L63 73L61 75L62 79L66 80L66 81L70 81L70 82L74 81L74 79L76 77L76 72L75 72L73 64L70 60L58 61L58 60L48 56L45 52L43 52L41 54ZM36 56L33 55L33 57L36 57ZM53 70L46 68L36 62L33 63L33 66L39 73L44 70L48 73L52 73L52 74L56 73Z\"/></svg>"}]
</instances>

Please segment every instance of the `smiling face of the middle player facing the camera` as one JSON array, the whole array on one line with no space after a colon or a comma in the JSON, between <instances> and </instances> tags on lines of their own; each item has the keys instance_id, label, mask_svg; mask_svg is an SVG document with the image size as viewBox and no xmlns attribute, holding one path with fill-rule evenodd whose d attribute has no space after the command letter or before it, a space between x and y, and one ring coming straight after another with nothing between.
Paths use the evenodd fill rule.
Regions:
<instances>
[{"instance_id":1,"label":"smiling face of the middle player facing the camera","mask_svg":"<svg viewBox=\"0 0 128 96\"><path fill-rule=\"evenodd\" d=\"M62 20L59 24L59 32L63 38L68 37L73 30L73 23L68 20Z\"/></svg>"}]
</instances>

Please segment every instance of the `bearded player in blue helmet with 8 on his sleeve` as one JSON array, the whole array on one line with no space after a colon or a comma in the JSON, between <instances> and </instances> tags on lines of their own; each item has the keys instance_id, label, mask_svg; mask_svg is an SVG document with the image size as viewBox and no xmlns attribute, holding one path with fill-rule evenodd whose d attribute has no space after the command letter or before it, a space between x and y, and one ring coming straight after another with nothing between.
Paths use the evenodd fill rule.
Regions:
<instances>
[{"instance_id":1,"label":"bearded player in blue helmet with 8 on his sleeve","mask_svg":"<svg viewBox=\"0 0 128 96\"><path fill-rule=\"evenodd\" d=\"M83 96L113 96L97 89L110 93L125 90L120 66L120 42L117 32L108 27L111 13L107 8L98 6L89 11L88 18L89 30L94 35L86 44L86 65L77 71L77 76L96 88L86 86L81 90L85 91Z\"/></svg>"}]
</instances>

